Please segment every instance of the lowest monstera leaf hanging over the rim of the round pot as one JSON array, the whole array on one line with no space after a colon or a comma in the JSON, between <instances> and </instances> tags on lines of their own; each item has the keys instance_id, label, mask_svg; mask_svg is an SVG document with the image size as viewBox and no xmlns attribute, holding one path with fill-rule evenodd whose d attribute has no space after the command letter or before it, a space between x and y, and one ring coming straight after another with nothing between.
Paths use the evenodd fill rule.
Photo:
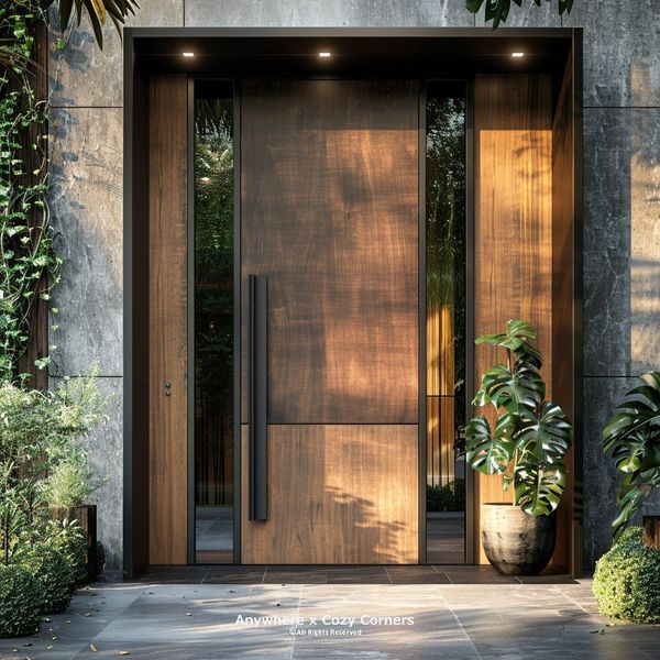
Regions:
<instances>
[{"instance_id":1,"label":"lowest monstera leaf hanging over the rim of the round pot","mask_svg":"<svg viewBox=\"0 0 660 660\"><path fill-rule=\"evenodd\" d=\"M514 473L516 503L530 516L551 514L561 501L566 487L566 471L563 463L540 465L521 461Z\"/></svg>"}]
</instances>

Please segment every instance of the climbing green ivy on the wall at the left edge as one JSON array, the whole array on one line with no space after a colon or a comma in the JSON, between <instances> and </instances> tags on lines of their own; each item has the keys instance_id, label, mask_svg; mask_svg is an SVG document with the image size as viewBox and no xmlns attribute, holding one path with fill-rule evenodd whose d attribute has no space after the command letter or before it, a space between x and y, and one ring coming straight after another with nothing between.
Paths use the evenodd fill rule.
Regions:
<instances>
[{"instance_id":1,"label":"climbing green ivy on the wall at the left edge","mask_svg":"<svg viewBox=\"0 0 660 660\"><path fill-rule=\"evenodd\" d=\"M53 249L48 189L47 99L35 91L34 33L41 3L0 6L0 382L22 380L38 299L48 300L62 260ZM56 311L56 310L53 310ZM47 358L36 361L44 369Z\"/></svg>"}]
</instances>

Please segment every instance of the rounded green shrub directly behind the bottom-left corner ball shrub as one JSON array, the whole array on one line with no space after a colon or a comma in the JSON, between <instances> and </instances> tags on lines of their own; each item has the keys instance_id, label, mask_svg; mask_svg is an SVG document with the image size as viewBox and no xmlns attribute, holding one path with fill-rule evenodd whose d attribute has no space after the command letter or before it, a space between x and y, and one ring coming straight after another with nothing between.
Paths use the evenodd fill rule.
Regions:
<instances>
[{"instance_id":1,"label":"rounded green shrub directly behind the bottom-left corner ball shrub","mask_svg":"<svg viewBox=\"0 0 660 660\"><path fill-rule=\"evenodd\" d=\"M45 543L21 552L19 563L41 585L43 612L62 612L72 602L76 588L76 571L69 558Z\"/></svg>"}]
</instances>

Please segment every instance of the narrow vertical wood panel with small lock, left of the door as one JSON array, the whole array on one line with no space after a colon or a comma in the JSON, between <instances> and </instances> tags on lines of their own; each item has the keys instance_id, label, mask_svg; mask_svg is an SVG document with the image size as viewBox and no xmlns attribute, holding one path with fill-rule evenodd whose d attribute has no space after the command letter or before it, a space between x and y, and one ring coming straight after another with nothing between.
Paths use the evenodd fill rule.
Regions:
<instances>
[{"instance_id":1,"label":"narrow vertical wood panel with small lock, left of the door","mask_svg":"<svg viewBox=\"0 0 660 660\"><path fill-rule=\"evenodd\" d=\"M150 552L187 562L187 79L150 80ZM164 383L172 384L165 396Z\"/></svg>"}]
</instances>

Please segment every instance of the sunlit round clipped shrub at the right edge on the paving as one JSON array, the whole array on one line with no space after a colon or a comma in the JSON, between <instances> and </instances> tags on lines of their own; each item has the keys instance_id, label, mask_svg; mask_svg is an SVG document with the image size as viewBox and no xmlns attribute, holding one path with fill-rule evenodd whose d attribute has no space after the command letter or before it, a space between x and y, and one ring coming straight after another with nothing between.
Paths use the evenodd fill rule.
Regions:
<instances>
[{"instance_id":1,"label":"sunlit round clipped shrub at the right edge on the paving","mask_svg":"<svg viewBox=\"0 0 660 660\"><path fill-rule=\"evenodd\" d=\"M660 552L631 527L596 563L594 593L604 616L636 624L660 623Z\"/></svg>"}]
</instances>

